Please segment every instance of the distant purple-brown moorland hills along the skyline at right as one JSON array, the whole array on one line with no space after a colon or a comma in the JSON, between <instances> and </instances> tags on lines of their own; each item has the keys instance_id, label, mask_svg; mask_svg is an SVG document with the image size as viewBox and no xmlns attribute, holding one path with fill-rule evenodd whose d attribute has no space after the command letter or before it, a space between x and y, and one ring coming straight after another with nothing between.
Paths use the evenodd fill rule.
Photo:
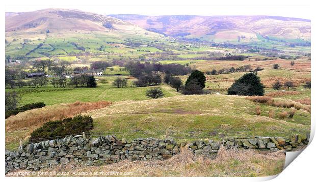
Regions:
<instances>
[{"instance_id":1,"label":"distant purple-brown moorland hills along the skyline at right","mask_svg":"<svg viewBox=\"0 0 316 182\"><path fill-rule=\"evenodd\" d=\"M278 16L109 15L153 32L208 41L310 41L310 20Z\"/></svg>"}]
</instances>

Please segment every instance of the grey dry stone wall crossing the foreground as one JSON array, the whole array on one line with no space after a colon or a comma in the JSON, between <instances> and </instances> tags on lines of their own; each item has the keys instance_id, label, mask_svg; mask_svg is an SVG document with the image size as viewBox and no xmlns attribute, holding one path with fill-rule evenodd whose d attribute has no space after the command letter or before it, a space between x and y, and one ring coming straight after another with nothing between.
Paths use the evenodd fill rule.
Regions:
<instances>
[{"instance_id":1,"label":"grey dry stone wall crossing the foreground","mask_svg":"<svg viewBox=\"0 0 316 182\"><path fill-rule=\"evenodd\" d=\"M163 160L188 147L196 155L216 156L223 145L229 147L253 148L266 151L291 151L307 144L309 135L295 135L287 138L255 137L225 138L222 141L198 140L177 143L173 139L138 138L128 142L114 135L85 138L83 135L63 139L24 144L16 151L6 150L6 173L13 169L40 170L57 164L80 162L88 166L111 164L124 159Z\"/></svg>"}]
</instances>

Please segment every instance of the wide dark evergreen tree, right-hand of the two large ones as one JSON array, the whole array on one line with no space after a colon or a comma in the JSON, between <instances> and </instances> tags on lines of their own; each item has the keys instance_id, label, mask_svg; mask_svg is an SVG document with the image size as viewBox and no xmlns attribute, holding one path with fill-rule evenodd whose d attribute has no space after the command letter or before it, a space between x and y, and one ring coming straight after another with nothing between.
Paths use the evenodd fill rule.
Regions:
<instances>
[{"instance_id":1,"label":"wide dark evergreen tree, right-hand of the two large ones","mask_svg":"<svg viewBox=\"0 0 316 182\"><path fill-rule=\"evenodd\" d=\"M264 85L256 73L246 73L228 88L228 95L263 96Z\"/></svg>"}]
</instances>

